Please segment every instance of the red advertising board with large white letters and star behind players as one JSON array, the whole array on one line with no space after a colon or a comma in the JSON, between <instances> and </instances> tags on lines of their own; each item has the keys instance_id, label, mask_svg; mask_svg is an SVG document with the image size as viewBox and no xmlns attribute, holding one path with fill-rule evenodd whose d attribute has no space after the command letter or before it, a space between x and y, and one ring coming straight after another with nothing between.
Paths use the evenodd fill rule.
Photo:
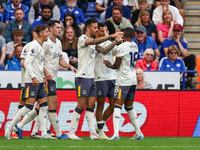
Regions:
<instances>
[{"instance_id":1,"label":"red advertising board with large white letters and star behind players","mask_svg":"<svg viewBox=\"0 0 200 150\"><path fill-rule=\"evenodd\" d=\"M19 102L20 90L0 89L0 136L4 128L12 120ZM77 105L75 90L57 90L58 118L62 131L69 131L72 112ZM134 109L138 115L139 125L145 136L151 137L191 137L200 136L200 94L199 91L180 90L137 90ZM105 107L108 106L106 99ZM24 127L24 136L30 136L35 121ZM52 129L52 126L49 127ZM131 125L128 114L121 111L120 136L133 136L135 130ZM112 117L104 126L108 136L113 134ZM54 132L54 131L53 131ZM82 113L78 136L89 136L89 129Z\"/></svg>"}]
</instances>

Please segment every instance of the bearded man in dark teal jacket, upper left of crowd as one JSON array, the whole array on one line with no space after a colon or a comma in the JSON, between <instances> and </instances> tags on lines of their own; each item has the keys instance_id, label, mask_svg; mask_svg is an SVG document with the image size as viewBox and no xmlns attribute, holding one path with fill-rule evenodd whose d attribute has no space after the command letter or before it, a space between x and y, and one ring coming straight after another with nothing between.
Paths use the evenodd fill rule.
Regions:
<instances>
[{"instance_id":1,"label":"bearded man in dark teal jacket, upper left of crowd","mask_svg":"<svg viewBox=\"0 0 200 150\"><path fill-rule=\"evenodd\" d=\"M12 31L15 29L22 29L24 31L22 42L28 43L31 41L31 24L23 20L24 15L25 14L22 8L15 9L16 20L9 21L3 34L4 38L6 39L6 43L14 41Z\"/></svg>"}]
</instances>

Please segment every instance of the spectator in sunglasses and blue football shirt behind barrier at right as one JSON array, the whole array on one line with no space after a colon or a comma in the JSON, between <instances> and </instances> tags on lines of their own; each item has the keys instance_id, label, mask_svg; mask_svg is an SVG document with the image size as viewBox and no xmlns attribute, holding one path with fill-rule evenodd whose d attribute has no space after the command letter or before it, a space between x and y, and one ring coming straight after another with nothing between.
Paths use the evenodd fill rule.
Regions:
<instances>
[{"instance_id":1,"label":"spectator in sunglasses and blue football shirt behind barrier at right","mask_svg":"<svg viewBox=\"0 0 200 150\"><path fill-rule=\"evenodd\" d=\"M185 71L185 63L184 61L178 57L180 55L180 51L178 50L176 45L171 45L167 51L167 57L163 57L159 64L160 71L180 71L181 78L182 72Z\"/></svg>"}]
</instances>

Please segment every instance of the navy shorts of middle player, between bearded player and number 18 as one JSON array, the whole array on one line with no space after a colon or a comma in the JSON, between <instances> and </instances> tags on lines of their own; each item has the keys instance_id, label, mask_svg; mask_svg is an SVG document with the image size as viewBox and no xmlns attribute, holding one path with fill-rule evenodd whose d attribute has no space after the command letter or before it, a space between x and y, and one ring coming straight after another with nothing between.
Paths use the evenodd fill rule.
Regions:
<instances>
[{"instance_id":1,"label":"navy shorts of middle player, between bearded player and number 18","mask_svg":"<svg viewBox=\"0 0 200 150\"><path fill-rule=\"evenodd\" d=\"M97 97L114 97L115 80L97 81Z\"/></svg>"}]
</instances>

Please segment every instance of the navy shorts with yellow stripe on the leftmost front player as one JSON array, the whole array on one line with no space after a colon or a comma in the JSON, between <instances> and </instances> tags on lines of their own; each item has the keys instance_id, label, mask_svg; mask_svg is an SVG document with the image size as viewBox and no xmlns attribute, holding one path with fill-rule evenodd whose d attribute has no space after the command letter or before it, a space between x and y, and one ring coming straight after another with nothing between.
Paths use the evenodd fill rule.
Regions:
<instances>
[{"instance_id":1,"label":"navy shorts with yellow stripe on the leftmost front player","mask_svg":"<svg viewBox=\"0 0 200 150\"><path fill-rule=\"evenodd\" d=\"M47 97L44 83L38 83L38 86L32 86L32 83L25 83L26 98L42 99Z\"/></svg>"}]
</instances>

